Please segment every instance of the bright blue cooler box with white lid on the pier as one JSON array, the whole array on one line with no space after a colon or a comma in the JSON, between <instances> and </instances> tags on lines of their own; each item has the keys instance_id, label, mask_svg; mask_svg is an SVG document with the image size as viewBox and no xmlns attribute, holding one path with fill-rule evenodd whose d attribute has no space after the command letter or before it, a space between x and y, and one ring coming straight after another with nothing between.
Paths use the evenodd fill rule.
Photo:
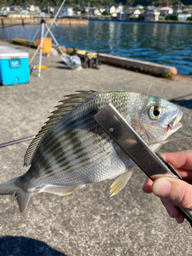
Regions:
<instances>
[{"instance_id":1,"label":"bright blue cooler box with white lid on the pier","mask_svg":"<svg viewBox=\"0 0 192 256\"><path fill-rule=\"evenodd\" d=\"M0 46L0 83L3 86L29 82L29 54Z\"/></svg>"}]
</instances>

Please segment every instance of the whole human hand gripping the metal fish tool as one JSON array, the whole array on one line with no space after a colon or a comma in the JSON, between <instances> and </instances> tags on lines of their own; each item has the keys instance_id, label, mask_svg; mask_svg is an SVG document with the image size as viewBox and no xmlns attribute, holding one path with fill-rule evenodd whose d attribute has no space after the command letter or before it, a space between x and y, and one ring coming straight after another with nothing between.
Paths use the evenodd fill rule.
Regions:
<instances>
[{"instance_id":1,"label":"whole human hand gripping the metal fish tool","mask_svg":"<svg viewBox=\"0 0 192 256\"><path fill-rule=\"evenodd\" d=\"M169 216L182 223L185 218L174 205L192 211L192 185L185 182L192 181L192 151L162 153L161 156L176 169L183 180L166 177L153 182L147 179L143 191L147 194L153 192L161 199Z\"/></svg>"}]
</instances>

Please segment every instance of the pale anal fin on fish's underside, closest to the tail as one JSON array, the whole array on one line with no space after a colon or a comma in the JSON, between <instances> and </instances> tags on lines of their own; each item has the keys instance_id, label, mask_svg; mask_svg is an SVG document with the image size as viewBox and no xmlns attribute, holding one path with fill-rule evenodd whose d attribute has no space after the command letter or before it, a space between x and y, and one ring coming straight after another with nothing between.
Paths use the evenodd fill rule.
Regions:
<instances>
[{"instance_id":1,"label":"pale anal fin on fish's underside, closest to the tail","mask_svg":"<svg viewBox=\"0 0 192 256\"><path fill-rule=\"evenodd\" d=\"M70 195L79 188L82 188L84 185L79 187L64 187L64 186L55 186L55 185L46 185L45 187L41 188L38 193L47 192L53 193L59 196Z\"/></svg>"}]
</instances>

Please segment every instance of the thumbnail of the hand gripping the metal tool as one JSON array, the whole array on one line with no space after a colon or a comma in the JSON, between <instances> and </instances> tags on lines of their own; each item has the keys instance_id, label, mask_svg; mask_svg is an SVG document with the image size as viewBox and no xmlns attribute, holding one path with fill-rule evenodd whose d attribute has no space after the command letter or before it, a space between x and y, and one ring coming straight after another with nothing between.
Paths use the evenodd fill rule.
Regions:
<instances>
[{"instance_id":1,"label":"thumbnail of the hand gripping the metal tool","mask_svg":"<svg viewBox=\"0 0 192 256\"><path fill-rule=\"evenodd\" d=\"M160 179L153 186L153 193L157 197L167 198L172 184L165 179Z\"/></svg>"}]
</instances>

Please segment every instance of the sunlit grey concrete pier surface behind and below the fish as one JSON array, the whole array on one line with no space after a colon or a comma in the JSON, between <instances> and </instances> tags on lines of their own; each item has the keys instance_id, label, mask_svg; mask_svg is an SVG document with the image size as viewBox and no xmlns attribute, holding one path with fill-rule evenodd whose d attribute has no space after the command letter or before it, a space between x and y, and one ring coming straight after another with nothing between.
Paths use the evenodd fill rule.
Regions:
<instances>
[{"instance_id":1,"label":"sunlit grey concrete pier surface behind and below the fish","mask_svg":"<svg viewBox=\"0 0 192 256\"><path fill-rule=\"evenodd\" d=\"M6 41L0 45L26 50ZM29 49L30 57L34 51ZM38 60L36 55L32 65L38 65ZM42 65L48 65L45 56ZM176 98L183 112L184 125L172 138L192 134L191 77L177 75L173 81L108 65L72 71L59 56L51 57L50 67L41 71L40 78L37 73L32 72L30 83L0 87L0 143L36 135L64 95L78 90L146 94L151 83L151 95ZM0 148L0 183L27 171L23 158L29 143ZM165 144L161 152L188 149L192 140L185 139ZM87 185L64 197L37 194L35 189L23 214L14 196L0 196L0 256L190 256L190 225L177 224L157 197L143 193L145 179L135 168L123 190L111 198L114 180Z\"/></svg>"}]
</instances>

